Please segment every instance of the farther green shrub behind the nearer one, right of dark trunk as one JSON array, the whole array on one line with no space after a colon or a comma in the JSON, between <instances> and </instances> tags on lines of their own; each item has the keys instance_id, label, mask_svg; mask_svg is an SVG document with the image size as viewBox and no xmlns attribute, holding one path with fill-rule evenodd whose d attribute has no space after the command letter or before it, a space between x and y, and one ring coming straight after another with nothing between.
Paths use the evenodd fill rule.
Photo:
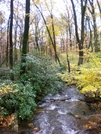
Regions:
<instances>
[{"instance_id":1,"label":"farther green shrub behind the nearer one, right of dark trunk","mask_svg":"<svg viewBox=\"0 0 101 134\"><path fill-rule=\"evenodd\" d=\"M22 83L30 82L36 91L36 100L40 100L48 93L56 93L62 82L56 74L57 65L48 56L28 55L26 57L26 73L20 78Z\"/></svg>"}]
</instances>

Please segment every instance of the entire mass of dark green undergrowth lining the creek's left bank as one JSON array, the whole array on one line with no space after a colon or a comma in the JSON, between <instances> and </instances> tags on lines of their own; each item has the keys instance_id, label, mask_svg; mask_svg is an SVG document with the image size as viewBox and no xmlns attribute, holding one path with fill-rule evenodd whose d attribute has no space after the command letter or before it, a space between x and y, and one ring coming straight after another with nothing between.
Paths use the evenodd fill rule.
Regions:
<instances>
[{"instance_id":1,"label":"entire mass of dark green undergrowth lining the creek's left bank","mask_svg":"<svg viewBox=\"0 0 101 134\"><path fill-rule=\"evenodd\" d=\"M57 75L59 65L50 57L36 53L26 56L26 73L20 75L20 63L13 70L14 81L3 80L0 84L0 115L14 112L19 120L29 120L38 101L48 93L56 93L62 86Z\"/></svg>"}]
</instances>

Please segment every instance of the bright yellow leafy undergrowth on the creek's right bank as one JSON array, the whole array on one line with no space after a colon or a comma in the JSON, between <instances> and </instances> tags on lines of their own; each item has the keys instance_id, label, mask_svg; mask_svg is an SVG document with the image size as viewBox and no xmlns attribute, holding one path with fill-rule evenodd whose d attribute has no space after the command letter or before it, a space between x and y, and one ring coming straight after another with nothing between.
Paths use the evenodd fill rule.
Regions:
<instances>
[{"instance_id":1,"label":"bright yellow leafy undergrowth on the creek's right bank","mask_svg":"<svg viewBox=\"0 0 101 134\"><path fill-rule=\"evenodd\" d=\"M86 57L86 62L81 66L71 65L71 73L68 70L59 76L67 85L76 85L81 93L92 94L96 92L101 97L101 56L100 53L90 53Z\"/></svg>"}]
</instances>

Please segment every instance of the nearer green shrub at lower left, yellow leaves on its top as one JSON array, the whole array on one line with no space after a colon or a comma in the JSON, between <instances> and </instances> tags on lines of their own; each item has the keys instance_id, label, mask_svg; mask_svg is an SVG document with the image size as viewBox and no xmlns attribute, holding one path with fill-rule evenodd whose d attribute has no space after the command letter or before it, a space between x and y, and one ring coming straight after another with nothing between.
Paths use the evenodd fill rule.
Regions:
<instances>
[{"instance_id":1,"label":"nearer green shrub at lower left, yellow leaves on its top","mask_svg":"<svg viewBox=\"0 0 101 134\"><path fill-rule=\"evenodd\" d=\"M36 107L35 92L26 83L3 83L0 85L0 115L17 113L18 119L30 119Z\"/></svg>"}]
</instances>

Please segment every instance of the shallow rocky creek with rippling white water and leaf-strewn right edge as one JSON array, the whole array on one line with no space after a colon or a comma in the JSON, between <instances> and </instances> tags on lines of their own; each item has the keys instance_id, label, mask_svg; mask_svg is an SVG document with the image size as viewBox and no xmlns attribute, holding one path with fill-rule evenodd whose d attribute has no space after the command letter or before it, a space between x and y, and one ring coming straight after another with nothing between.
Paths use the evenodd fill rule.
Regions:
<instances>
[{"instance_id":1,"label":"shallow rocky creek with rippling white water and leaf-strewn right edge","mask_svg":"<svg viewBox=\"0 0 101 134\"><path fill-rule=\"evenodd\" d=\"M101 114L76 87L62 87L42 99L33 125L19 134L101 134Z\"/></svg>"}]
</instances>

